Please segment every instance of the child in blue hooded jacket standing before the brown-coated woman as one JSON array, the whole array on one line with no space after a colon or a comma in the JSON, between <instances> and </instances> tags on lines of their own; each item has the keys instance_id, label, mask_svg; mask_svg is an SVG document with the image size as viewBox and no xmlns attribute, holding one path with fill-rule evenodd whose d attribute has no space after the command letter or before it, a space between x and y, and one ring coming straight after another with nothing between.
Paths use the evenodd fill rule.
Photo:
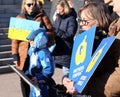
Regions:
<instances>
[{"instance_id":1,"label":"child in blue hooded jacket standing before the brown-coated woman","mask_svg":"<svg viewBox=\"0 0 120 97\"><path fill-rule=\"evenodd\" d=\"M33 84L40 88L40 91L37 92L34 87L31 87L29 97L56 97L55 92L50 92L52 86L55 86L52 79L55 66L47 47L48 37L45 28L32 31L27 39L30 41L28 50L30 66L26 74L29 75Z\"/></svg>"}]
</instances>

